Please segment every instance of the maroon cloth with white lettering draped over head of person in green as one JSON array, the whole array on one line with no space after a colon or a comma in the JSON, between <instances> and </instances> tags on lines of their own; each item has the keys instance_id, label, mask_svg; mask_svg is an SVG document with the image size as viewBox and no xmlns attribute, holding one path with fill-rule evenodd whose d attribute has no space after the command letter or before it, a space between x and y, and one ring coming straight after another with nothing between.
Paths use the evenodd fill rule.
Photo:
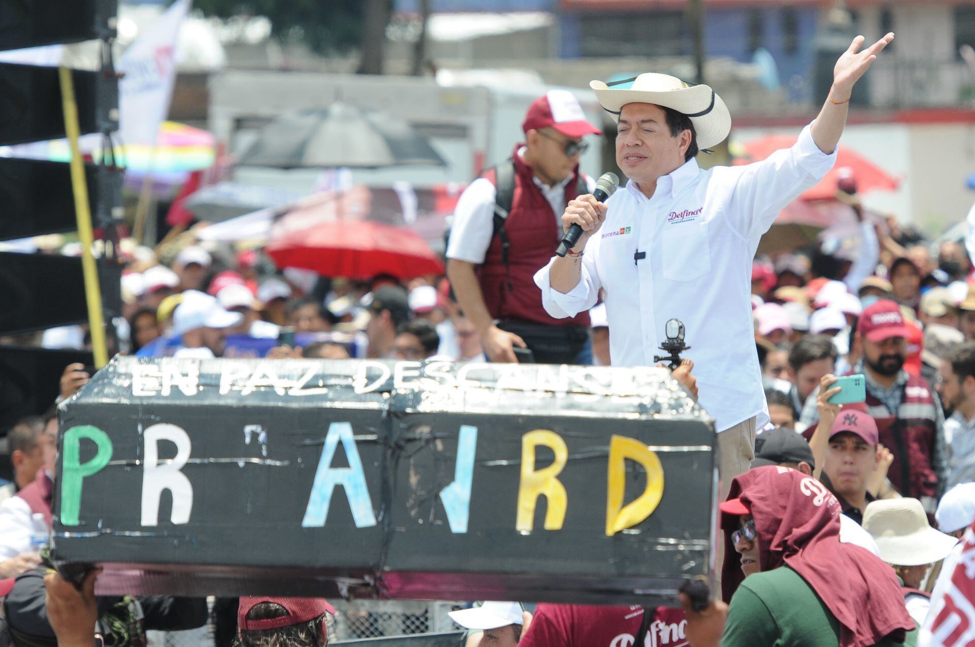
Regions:
<instances>
[{"instance_id":1,"label":"maroon cloth with white lettering draped over head of person in green","mask_svg":"<svg viewBox=\"0 0 975 647\"><path fill-rule=\"evenodd\" d=\"M876 645L885 636L904 640L914 623L893 569L866 549L839 541L839 501L815 478L770 465L738 476L728 499L740 499L755 518L759 564L788 564L839 620L840 647ZM731 532L739 516L722 513L726 602L745 579Z\"/></svg>"}]
</instances>

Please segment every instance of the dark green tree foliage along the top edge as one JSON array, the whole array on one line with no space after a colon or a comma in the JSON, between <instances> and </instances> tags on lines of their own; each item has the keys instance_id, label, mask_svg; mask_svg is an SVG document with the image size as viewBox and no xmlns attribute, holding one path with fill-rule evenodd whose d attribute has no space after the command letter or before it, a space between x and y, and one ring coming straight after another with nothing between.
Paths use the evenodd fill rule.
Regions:
<instances>
[{"instance_id":1,"label":"dark green tree foliage along the top edge","mask_svg":"<svg viewBox=\"0 0 975 647\"><path fill-rule=\"evenodd\" d=\"M358 49L369 3L363 0L194 0L207 16L266 16L272 35L299 40L319 54Z\"/></svg>"}]
</instances>

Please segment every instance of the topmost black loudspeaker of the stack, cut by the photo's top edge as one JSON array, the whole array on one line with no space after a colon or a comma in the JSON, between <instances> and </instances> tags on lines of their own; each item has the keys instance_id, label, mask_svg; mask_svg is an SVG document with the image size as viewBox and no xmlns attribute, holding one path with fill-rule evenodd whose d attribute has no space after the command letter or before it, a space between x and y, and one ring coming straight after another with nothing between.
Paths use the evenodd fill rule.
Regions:
<instances>
[{"instance_id":1,"label":"topmost black loudspeaker of the stack, cut by the photo's top edge","mask_svg":"<svg viewBox=\"0 0 975 647\"><path fill-rule=\"evenodd\" d=\"M113 36L117 7L117 0L3 0L0 50Z\"/></svg>"}]
</instances>

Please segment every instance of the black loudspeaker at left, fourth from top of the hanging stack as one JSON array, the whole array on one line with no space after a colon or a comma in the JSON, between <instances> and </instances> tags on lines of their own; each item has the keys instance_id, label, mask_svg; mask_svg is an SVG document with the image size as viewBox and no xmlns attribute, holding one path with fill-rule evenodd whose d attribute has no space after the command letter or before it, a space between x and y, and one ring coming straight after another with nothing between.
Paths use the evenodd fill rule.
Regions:
<instances>
[{"instance_id":1,"label":"black loudspeaker at left, fourth from top of the hanging stack","mask_svg":"<svg viewBox=\"0 0 975 647\"><path fill-rule=\"evenodd\" d=\"M105 322L122 313L122 268L98 261ZM0 334L88 323L81 258L0 252Z\"/></svg>"}]
</instances>

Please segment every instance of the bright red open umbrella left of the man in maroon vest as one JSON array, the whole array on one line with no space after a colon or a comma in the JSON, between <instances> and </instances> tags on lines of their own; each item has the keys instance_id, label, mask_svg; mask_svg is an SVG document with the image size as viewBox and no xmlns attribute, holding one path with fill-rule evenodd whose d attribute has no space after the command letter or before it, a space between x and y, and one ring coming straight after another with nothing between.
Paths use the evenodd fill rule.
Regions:
<instances>
[{"instance_id":1,"label":"bright red open umbrella left of the man in maroon vest","mask_svg":"<svg viewBox=\"0 0 975 647\"><path fill-rule=\"evenodd\" d=\"M401 280L444 274L444 263L409 229L371 220L333 220L290 231L265 247L278 267L313 270L326 277Z\"/></svg>"}]
</instances>

